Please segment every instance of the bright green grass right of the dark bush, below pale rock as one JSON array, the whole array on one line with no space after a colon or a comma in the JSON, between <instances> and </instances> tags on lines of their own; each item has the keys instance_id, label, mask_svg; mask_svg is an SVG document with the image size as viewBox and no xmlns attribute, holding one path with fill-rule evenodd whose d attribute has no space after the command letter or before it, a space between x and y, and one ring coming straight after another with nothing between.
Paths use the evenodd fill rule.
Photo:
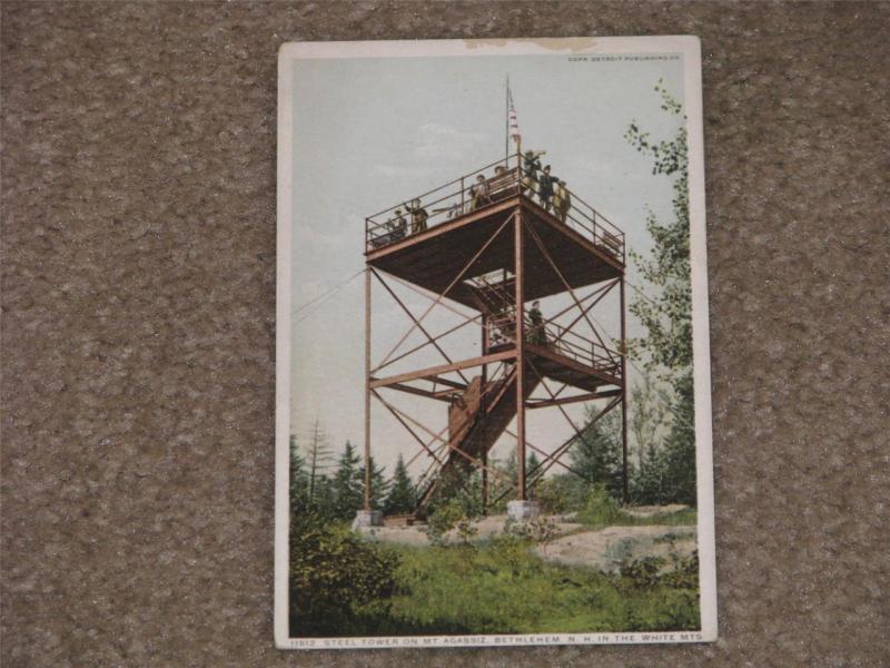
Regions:
<instances>
[{"instance_id":1,"label":"bright green grass right of the dark bush, below pale rock","mask_svg":"<svg viewBox=\"0 0 890 668\"><path fill-rule=\"evenodd\" d=\"M525 541L395 548L398 587L372 632L532 633L699 628L694 574L607 577L551 564Z\"/></svg>"}]
</instances>

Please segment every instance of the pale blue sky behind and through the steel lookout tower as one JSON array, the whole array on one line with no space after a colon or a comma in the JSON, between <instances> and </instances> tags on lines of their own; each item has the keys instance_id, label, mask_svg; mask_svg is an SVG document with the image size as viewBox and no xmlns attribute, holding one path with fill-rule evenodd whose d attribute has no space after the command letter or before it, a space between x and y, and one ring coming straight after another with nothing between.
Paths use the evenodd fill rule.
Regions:
<instances>
[{"instance_id":1,"label":"pale blue sky behind and through the steel lookout tower","mask_svg":"<svg viewBox=\"0 0 890 668\"><path fill-rule=\"evenodd\" d=\"M510 76L523 148L545 149L545 163L584 200L625 232L629 247L646 253L647 208L671 215L671 187L652 176L651 160L623 138L631 121L669 138L678 119L660 109L659 79L682 97L682 60L587 60L566 56L350 58L299 61L294 81L294 257L291 433L316 418L335 450L363 443L364 283L359 276L330 298L300 306L364 268L364 218L492 163L504 154L504 80ZM457 271L459 267L455 267ZM629 281L639 284L633 267ZM400 295L406 293L402 291ZM409 294L409 293L408 293ZM629 291L629 298L633 292ZM411 299L411 297L407 297ZM375 288L374 350L389 350L406 321ZM545 315L560 308L545 304ZM412 299L415 311L422 299ZM597 321L612 333L616 307ZM454 323L425 321L432 332ZM639 332L629 321L630 334ZM422 342L413 336L405 346ZM477 354L476 332L448 340L456 356ZM474 351L475 346L475 351ZM405 350L405 348L403 348ZM415 366L437 364L435 352ZM408 366L394 366L396 373ZM435 431L445 404L398 396ZM427 405L432 404L432 405ZM426 406L417 409L417 406ZM564 419L531 412L530 440L552 450L570 433ZM581 407L572 415L581 420ZM416 444L383 410L374 411L375 456L392 464ZM504 448L500 446L500 453ZM415 469L416 473L418 470Z\"/></svg>"}]
</instances>

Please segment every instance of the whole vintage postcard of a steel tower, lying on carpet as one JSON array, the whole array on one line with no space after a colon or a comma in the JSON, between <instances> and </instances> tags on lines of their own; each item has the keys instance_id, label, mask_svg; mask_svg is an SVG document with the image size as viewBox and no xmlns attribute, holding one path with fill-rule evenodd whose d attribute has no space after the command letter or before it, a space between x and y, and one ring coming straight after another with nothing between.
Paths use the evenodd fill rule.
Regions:
<instances>
[{"instance_id":1,"label":"whole vintage postcard of a steel tower, lying on carpet","mask_svg":"<svg viewBox=\"0 0 890 668\"><path fill-rule=\"evenodd\" d=\"M694 37L288 43L280 648L716 639Z\"/></svg>"}]
</instances>

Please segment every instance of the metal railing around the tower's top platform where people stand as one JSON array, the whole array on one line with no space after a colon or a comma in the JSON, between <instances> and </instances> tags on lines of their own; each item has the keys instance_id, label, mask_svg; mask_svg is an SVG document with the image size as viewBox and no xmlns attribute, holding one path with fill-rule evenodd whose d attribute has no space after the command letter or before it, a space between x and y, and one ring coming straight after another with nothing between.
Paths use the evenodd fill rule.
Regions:
<instances>
[{"instance_id":1,"label":"metal railing around the tower's top platform where people stand","mask_svg":"<svg viewBox=\"0 0 890 668\"><path fill-rule=\"evenodd\" d=\"M518 154L474 169L443 186L365 218L365 249L377 250L465 214L522 195L600 249L625 262L624 233L555 176ZM550 186L545 185L550 184Z\"/></svg>"}]
</instances>

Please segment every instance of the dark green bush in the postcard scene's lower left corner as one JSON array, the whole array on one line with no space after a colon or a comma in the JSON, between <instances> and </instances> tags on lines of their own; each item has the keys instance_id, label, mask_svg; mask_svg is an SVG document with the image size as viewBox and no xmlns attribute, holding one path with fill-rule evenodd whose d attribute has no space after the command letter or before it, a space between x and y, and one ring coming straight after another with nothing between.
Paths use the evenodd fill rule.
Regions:
<instances>
[{"instance_id":1,"label":"dark green bush in the postcard scene's lower left corner","mask_svg":"<svg viewBox=\"0 0 890 668\"><path fill-rule=\"evenodd\" d=\"M386 615L398 557L313 512L290 520L290 635L362 632L367 618Z\"/></svg>"}]
</instances>

